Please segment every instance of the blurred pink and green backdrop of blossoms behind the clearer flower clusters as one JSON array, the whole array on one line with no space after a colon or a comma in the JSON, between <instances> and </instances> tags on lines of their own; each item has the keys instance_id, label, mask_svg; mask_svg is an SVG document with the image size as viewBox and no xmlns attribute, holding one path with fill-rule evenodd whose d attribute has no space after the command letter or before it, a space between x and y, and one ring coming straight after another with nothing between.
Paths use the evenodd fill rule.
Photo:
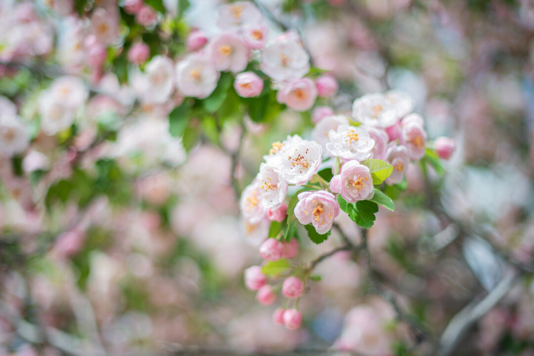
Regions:
<instances>
[{"instance_id":1,"label":"blurred pink and green backdrop of blossoms behind the clearer flower clusters","mask_svg":"<svg viewBox=\"0 0 534 356\"><path fill-rule=\"evenodd\" d=\"M297 31L339 81L337 112L402 89L429 139L457 144L443 176L411 165L396 211L368 233L377 278L409 318L396 325L362 257L340 252L318 266L297 331L244 287L265 227L244 224L237 194L272 141L310 136L310 114L192 120L179 139L167 117L180 98L132 110L127 50L142 39L150 57L179 56L191 28L217 31L223 2L146 3L158 25L114 0L0 0L0 113L13 104L32 137L0 155L0 355L306 354L362 337L371 346L355 354L534 355L533 1L258 0L270 37ZM84 26L98 9L120 36L93 66ZM75 131L46 136L39 97L62 74L90 95ZM337 223L358 241L346 214ZM341 241L303 241L298 259Z\"/></svg>"}]
</instances>

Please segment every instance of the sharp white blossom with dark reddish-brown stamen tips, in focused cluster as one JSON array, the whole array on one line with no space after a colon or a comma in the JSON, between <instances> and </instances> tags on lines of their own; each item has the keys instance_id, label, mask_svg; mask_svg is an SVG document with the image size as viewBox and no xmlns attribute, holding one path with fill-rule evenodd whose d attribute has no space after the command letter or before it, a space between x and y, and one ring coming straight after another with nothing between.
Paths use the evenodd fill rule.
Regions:
<instances>
[{"instance_id":1,"label":"sharp white blossom with dark reddish-brown stamen tips, in focused cluster","mask_svg":"<svg viewBox=\"0 0 534 356\"><path fill-rule=\"evenodd\" d=\"M280 156L281 164L274 163L273 167L279 167L287 183L306 184L319 171L323 149L315 141L303 140L300 137L292 139L284 146Z\"/></svg>"}]
</instances>

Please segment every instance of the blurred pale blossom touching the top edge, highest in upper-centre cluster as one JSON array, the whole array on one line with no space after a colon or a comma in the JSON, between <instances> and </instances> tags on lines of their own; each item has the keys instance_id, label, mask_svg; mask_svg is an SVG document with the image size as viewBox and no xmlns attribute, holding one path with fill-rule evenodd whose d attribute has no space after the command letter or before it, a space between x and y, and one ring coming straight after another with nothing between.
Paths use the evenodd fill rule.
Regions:
<instances>
[{"instance_id":1,"label":"blurred pale blossom touching the top edge, highest in upper-centre cluster","mask_svg":"<svg viewBox=\"0 0 534 356\"><path fill-rule=\"evenodd\" d=\"M263 20L263 13L249 1L236 1L219 9L217 26L222 30L239 30L249 25L257 25Z\"/></svg>"}]
</instances>

